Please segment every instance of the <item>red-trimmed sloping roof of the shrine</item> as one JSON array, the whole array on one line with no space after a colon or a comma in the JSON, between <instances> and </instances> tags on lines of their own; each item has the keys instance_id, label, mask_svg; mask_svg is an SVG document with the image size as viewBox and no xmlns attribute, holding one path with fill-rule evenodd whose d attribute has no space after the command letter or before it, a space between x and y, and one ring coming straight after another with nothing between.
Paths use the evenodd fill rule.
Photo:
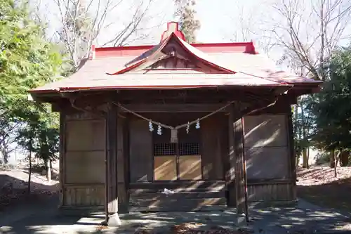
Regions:
<instances>
[{"instance_id":1,"label":"red-trimmed sloping roof of the shrine","mask_svg":"<svg viewBox=\"0 0 351 234\"><path fill-rule=\"evenodd\" d=\"M192 58L196 58L208 67L213 67L214 72L182 69L159 70L156 73L145 72L145 68L168 56L164 53L164 48L171 40ZM81 69L72 76L46 84L32 92L290 86L321 83L277 70L272 61L256 52L252 42L187 44L175 32L168 32L168 37L157 46L93 48L92 55L91 59L84 60Z\"/></svg>"}]
</instances>

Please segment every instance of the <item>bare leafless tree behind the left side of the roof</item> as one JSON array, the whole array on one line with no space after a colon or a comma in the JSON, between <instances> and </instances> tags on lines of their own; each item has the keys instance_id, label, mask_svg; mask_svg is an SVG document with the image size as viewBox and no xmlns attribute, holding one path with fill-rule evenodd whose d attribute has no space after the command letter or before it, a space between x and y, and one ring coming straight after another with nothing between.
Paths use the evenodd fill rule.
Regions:
<instances>
[{"instance_id":1,"label":"bare leafless tree behind the left side of the roof","mask_svg":"<svg viewBox=\"0 0 351 234\"><path fill-rule=\"evenodd\" d=\"M145 38L145 24L150 16L150 6L155 0L53 0L58 6L60 29L55 33L72 60L73 71L79 68L80 61L88 56L91 45L104 41L99 46L124 46L135 39ZM122 4L130 4L128 17L112 22L107 18ZM162 18L161 18L162 20ZM160 21L161 21L160 20ZM118 23L123 24L117 27ZM121 26L121 25L119 25ZM119 28L117 33L102 33L110 27ZM116 32L116 30L114 30ZM103 34L103 35L102 35Z\"/></svg>"}]
</instances>

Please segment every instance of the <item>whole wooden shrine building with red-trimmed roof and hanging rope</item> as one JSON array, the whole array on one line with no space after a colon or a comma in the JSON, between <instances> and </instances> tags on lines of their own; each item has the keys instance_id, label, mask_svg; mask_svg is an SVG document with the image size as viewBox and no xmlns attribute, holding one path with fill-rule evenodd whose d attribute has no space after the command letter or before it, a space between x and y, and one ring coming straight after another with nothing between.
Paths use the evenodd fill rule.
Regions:
<instances>
[{"instance_id":1,"label":"whole wooden shrine building with red-trimmed roof and hanging rope","mask_svg":"<svg viewBox=\"0 0 351 234\"><path fill-rule=\"evenodd\" d=\"M60 113L60 209L194 211L294 204L291 105L321 82L277 69L253 42L95 48L29 91Z\"/></svg>"}]
</instances>

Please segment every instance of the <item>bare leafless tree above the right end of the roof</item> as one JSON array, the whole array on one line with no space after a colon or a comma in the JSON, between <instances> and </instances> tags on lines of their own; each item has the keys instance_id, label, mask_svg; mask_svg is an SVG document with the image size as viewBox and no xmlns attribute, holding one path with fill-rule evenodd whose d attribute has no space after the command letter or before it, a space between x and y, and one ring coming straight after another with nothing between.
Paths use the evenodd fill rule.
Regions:
<instances>
[{"instance_id":1,"label":"bare leafless tree above the right end of the roof","mask_svg":"<svg viewBox=\"0 0 351 234\"><path fill-rule=\"evenodd\" d=\"M295 70L326 80L324 68L340 40L350 37L351 2L348 0L279 0L274 21L267 23L264 37L283 48L280 62L288 60Z\"/></svg>"}]
</instances>

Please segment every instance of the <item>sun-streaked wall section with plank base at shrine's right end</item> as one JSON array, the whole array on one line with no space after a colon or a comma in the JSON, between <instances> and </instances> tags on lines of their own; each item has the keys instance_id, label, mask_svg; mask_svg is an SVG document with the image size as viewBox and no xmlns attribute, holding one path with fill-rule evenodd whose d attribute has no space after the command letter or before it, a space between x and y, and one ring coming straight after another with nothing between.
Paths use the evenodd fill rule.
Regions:
<instances>
[{"instance_id":1,"label":"sun-streaked wall section with plank base at shrine's right end","mask_svg":"<svg viewBox=\"0 0 351 234\"><path fill-rule=\"evenodd\" d=\"M288 115L265 114L244 117L244 149L249 201L295 200Z\"/></svg>"}]
</instances>

